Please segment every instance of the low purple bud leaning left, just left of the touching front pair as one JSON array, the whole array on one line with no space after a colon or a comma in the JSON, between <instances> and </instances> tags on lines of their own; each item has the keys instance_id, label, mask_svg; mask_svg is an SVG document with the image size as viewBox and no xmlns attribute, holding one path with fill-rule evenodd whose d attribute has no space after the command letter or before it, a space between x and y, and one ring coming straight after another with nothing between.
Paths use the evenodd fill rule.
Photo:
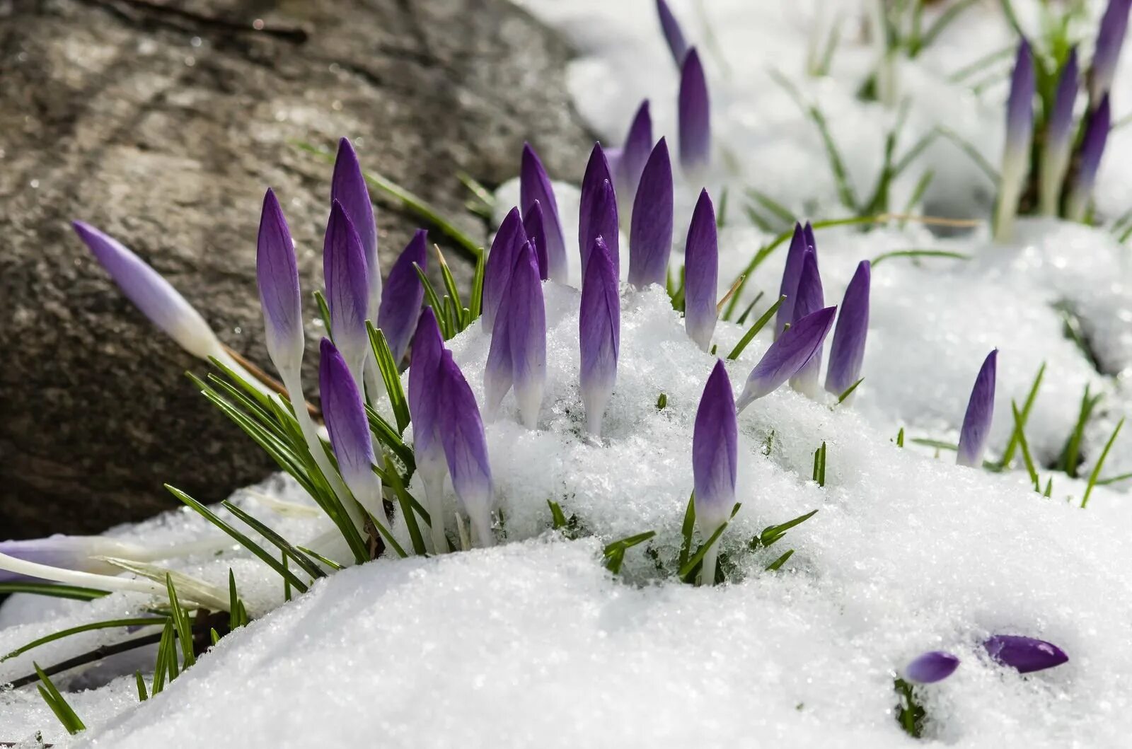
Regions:
<instances>
[{"instance_id":1,"label":"low purple bud leaning left, just left of the touching front pair","mask_svg":"<svg viewBox=\"0 0 1132 749\"><path fill-rule=\"evenodd\" d=\"M375 523L384 518L381 482L374 473L374 439L369 419L346 360L331 343L323 338L318 359L318 391L323 398L323 417L331 433L331 446L338 460L338 473ZM355 513L346 511L358 522Z\"/></svg>"}]
</instances>

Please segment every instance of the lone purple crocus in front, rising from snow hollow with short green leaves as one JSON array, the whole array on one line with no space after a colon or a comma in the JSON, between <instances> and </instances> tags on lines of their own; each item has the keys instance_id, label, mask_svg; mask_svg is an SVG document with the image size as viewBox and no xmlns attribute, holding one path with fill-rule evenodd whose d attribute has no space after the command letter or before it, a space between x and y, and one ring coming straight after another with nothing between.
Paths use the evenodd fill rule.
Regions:
<instances>
[{"instance_id":1,"label":"lone purple crocus in front, rising from snow hollow with short green leaves","mask_svg":"<svg viewBox=\"0 0 1132 749\"><path fill-rule=\"evenodd\" d=\"M695 481L696 524L706 540L727 523L735 506L735 479L738 465L739 425L736 419L731 380L721 360L707 378L696 410L692 432L692 474ZM719 544L707 549L701 583L715 582Z\"/></svg>"}]
</instances>

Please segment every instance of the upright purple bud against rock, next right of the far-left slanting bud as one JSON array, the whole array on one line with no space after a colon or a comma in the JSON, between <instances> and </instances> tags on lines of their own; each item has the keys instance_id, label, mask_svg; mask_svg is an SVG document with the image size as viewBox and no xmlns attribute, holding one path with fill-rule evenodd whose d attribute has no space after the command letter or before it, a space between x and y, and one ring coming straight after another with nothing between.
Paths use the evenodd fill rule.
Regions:
<instances>
[{"instance_id":1,"label":"upright purple bud against rock, next right of the far-left slanting bud","mask_svg":"<svg viewBox=\"0 0 1132 749\"><path fill-rule=\"evenodd\" d=\"M259 214L256 282L267 332L267 353L280 372L297 371L302 365L303 348L299 267L291 230L280 201L271 190L264 196L264 208Z\"/></svg>"}]
</instances>

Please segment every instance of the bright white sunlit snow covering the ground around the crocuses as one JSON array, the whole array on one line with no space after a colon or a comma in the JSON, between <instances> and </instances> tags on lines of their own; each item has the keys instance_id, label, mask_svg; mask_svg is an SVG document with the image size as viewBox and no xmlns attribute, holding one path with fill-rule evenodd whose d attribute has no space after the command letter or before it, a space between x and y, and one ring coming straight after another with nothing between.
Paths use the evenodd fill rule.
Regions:
<instances>
[{"instance_id":1,"label":"bright white sunlit snow covering the ground around the crocuses","mask_svg":"<svg viewBox=\"0 0 1132 749\"><path fill-rule=\"evenodd\" d=\"M676 70L652 0L522 5L575 41L582 57L568 77L576 105L604 141L619 145L645 96L653 101L657 135L675 138ZM698 10L701 5L706 9ZM804 76L815 12L826 24L856 12L841 0L815 10L820 5L672 3L694 42L704 44L707 28L715 40L705 60L717 163L726 166L707 175L707 186L717 200L724 184L731 196L720 236L721 295L771 239L747 225L743 188L757 187L803 217L846 215L816 131L767 77L769 67L795 80L804 95L820 97L858 193L868 191L878 167L893 114L855 98L871 50L846 31L833 76ZM1018 6L1023 23L1034 19L1030 3ZM900 70L902 93L914 98L902 143L945 122L997 162L1002 86L979 98L943 81L1011 42L990 8L967 14ZM1081 31L1091 38L1092 21ZM1117 94L1132 91L1130 61L1132 54L1124 55ZM1121 117L1122 98L1116 101ZM1124 157L1132 155L1130 132L1114 134L1100 174L1098 208L1109 219L1132 205ZM537 134L532 139L538 146ZM576 182L584 160L578 154L575 173L552 177ZM894 209L903 208L926 169L936 179L925 213L989 213L986 178L946 141L898 181ZM557 187L567 248L576 252L576 191ZM676 265L700 187L678 184ZM500 208L516 193L514 184L504 186ZM115 748L228 742L252 749L910 746L893 720L891 672L923 651L946 649L962 665L923 692L929 739L960 747L1126 746L1132 732L1126 484L1097 489L1082 511L1077 506L1083 482L1044 465L1056 460L1087 384L1106 397L1087 434L1086 475L1115 422L1132 412L1132 398L1121 387L1132 371L1129 250L1105 230L1040 221L1021 223L1011 247L994 246L985 227L943 240L915 223L869 233L818 230L817 244L827 303L840 301L861 259L926 248L972 259L916 265L892 258L874 269L866 379L851 408L782 389L744 412L743 509L723 536L724 550L739 560L740 582L715 589L660 583L654 560L637 548L626 560L626 583L602 569L599 541L564 542L546 533L546 502L555 499L604 541L657 531L652 548L671 568L692 488L692 421L714 363L684 336L661 290L624 287L618 386L604 439L594 442L584 434L577 393L578 295L550 284L539 430L516 423L513 396L488 428L497 499L508 536L520 543L346 570L226 637L144 705L136 703L132 677L68 695L91 726L84 739ZM627 241L621 247L626 268ZM784 248L771 255L747 285L746 299L765 292L758 310L777 294L783 256ZM577 258L571 261L576 283ZM1081 316L1106 376L1062 336L1062 319L1052 309L1056 302ZM721 325L720 352L741 335L741 327ZM736 390L767 343L760 336L729 363ZM449 345L481 397L483 330L477 324ZM1027 437L1043 482L1053 476L1053 499L1036 494L1024 472L959 468L952 454L936 458L910 442L904 449L894 445L900 428L909 440L954 441L975 373L995 346L1001 353L993 457L1010 437L1011 401L1021 404L1046 363ZM659 411L662 393L668 405ZM829 467L821 489L808 479L813 450L823 441ZM1126 471L1132 471L1132 433L1117 440L1104 474ZM177 477L170 481L175 484ZM302 499L283 480L260 490ZM328 526L277 516L248 493L238 500L294 541ZM780 548L739 550L766 525L812 509L820 511ZM213 531L182 513L119 532L168 544ZM397 532L404 535L403 528ZM781 571L761 571L788 548L797 551ZM254 614L282 600L278 577L240 553L179 566L220 585L233 567ZM114 595L45 609L42 601L14 600L0 612L0 625L8 626L0 629L0 651L66 626L131 615L143 602ZM983 656L979 643L990 632L1049 639L1070 662L1019 677ZM54 663L119 637L104 631L52 644L0 664L0 679L27 673L33 656ZM145 657L152 663L152 653ZM123 673L145 663L105 669ZM71 685L104 680L95 672ZM50 740L65 740L33 690L0 695L0 740L37 729Z\"/></svg>"}]
</instances>

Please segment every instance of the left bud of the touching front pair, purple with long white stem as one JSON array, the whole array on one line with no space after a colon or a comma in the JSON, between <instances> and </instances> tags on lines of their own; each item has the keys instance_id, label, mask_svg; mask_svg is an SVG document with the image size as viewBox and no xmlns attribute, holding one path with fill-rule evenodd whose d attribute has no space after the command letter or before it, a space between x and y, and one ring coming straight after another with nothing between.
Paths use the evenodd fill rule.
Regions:
<instances>
[{"instance_id":1,"label":"left bud of the touching front pair, purple with long white stem","mask_svg":"<svg viewBox=\"0 0 1132 749\"><path fill-rule=\"evenodd\" d=\"M440 394L440 355L444 338L431 307L421 310L417 332L413 334L412 356L409 362L409 415L413 424L413 460L417 474L424 484L436 553L445 553L448 542L444 523L444 476L448 472L444 457L444 442L439 432L437 413Z\"/></svg>"}]
</instances>

